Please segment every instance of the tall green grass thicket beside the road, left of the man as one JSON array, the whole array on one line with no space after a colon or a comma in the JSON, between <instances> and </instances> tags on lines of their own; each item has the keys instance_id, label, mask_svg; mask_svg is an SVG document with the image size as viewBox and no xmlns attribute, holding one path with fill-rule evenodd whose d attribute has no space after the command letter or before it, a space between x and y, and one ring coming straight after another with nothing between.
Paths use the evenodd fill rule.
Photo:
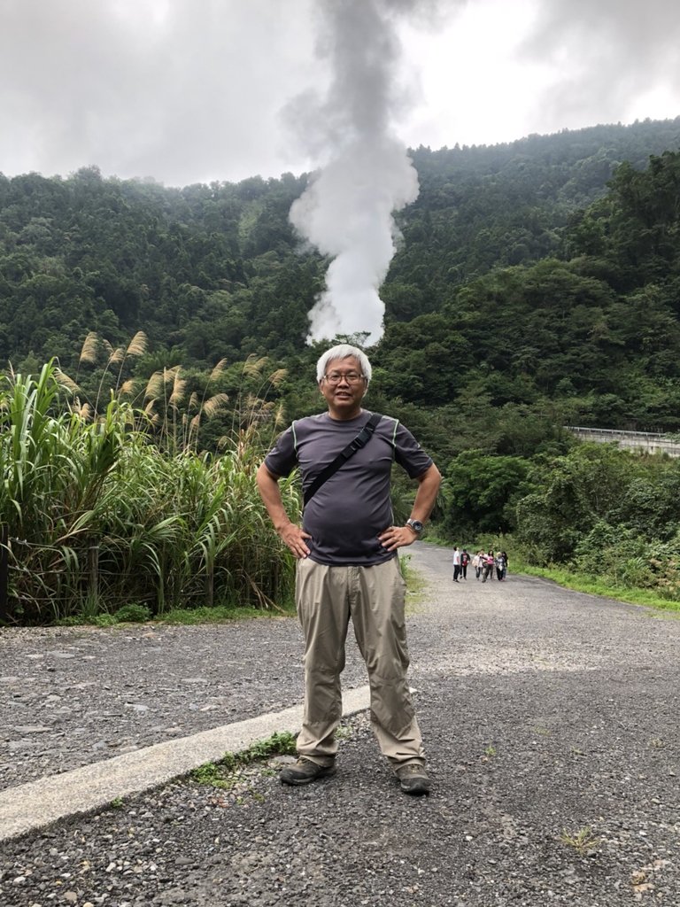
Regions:
<instances>
[{"instance_id":1,"label":"tall green grass thicket beside the road, left of the man","mask_svg":"<svg viewBox=\"0 0 680 907\"><path fill-rule=\"evenodd\" d=\"M259 500L252 427L219 457L169 451L151 443L143 409L121 396L83 409L71 384L50 363L0 385L9 620L289 599L293 564ZM296 483L281 488L299 509Z\"/></svg>"}]
</instances>

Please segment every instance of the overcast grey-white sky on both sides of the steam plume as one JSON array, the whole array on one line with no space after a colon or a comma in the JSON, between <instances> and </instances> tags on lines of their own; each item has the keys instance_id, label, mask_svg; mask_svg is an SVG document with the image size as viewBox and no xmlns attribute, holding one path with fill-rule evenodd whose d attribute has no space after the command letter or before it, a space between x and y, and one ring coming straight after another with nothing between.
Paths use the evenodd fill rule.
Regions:
<instances>
[{"instance_id":1,"label":"overcast grey-white sky on both sides of the steam plume","mask_svg":"<svg viewBox=\"0 0 680 907\"><path fill-rule=\"evenodd\" d=\"M315 168L315 124L291 111L328 80L319 2L0 0L0 171L186 185ZM384 4L422 14L398 24L407 145L680 115L677 0Z\"/></svg>"}]
</instances>

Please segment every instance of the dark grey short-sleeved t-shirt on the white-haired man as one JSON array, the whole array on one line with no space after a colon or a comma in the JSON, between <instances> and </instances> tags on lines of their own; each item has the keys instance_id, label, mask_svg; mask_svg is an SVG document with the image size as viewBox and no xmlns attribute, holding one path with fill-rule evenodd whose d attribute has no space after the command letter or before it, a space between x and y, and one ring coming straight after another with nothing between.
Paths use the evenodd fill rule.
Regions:
<instances>
[{"instance_id":1,"label":"dark grey short-sleeved t-shirt on the white-haired man","mask_svg":"<svg viewBox=\"0 0 680 907\"><path fill-rule=\"evenodd\" d=\"M363 410L346 421L332 419L327 413L299 419L279 435L265 465L270 473L280 476L299 466L305 490L355 439L370 417ZM413 434L397 419L384 415L370 441L343 463L305 507L303 528L312 536L307 545L313 561L330 566L369 566L395 556L378 540L378 533L393 524L390 473L394 461L412 479L432 465L431 457Z\"/></svg>"}]
</instances>

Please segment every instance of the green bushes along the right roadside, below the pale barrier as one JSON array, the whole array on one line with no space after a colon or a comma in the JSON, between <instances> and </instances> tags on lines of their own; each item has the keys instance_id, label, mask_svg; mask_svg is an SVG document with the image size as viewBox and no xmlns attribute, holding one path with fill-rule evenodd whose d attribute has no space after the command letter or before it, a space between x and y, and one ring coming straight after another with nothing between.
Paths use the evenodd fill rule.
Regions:
<instances>
[{"instance_id":1,"label":"green bushes along the right roadside, below the pale barrier","mask_svg":"<svg viewBox=\"0 0 680 907\"><path fill-rule=\"evenodd\" d=\"M504 550L511 572L680 608L680 459L573 441L566 453L527 458L526 480L514 485L481 481L486 462L493 470L498 458L458 458L443 486L443 532L435 527L432 541ZM481 531L475 511L500 531Z\"/></svg>"}]
</instances>

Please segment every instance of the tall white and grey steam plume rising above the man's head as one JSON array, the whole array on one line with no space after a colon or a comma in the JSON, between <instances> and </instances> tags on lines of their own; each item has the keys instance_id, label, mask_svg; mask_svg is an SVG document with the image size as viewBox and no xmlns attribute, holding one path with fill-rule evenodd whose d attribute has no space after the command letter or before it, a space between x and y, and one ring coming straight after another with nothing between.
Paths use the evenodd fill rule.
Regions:
<instances>
[{"instance_id":1,"label":"tall white and grey steam plume rising above the man's head","mask_svg":"<svg viewBox=\"0 0 680 907\"><path fill-rule=\"evenodd\" d=\"M296 229L333 258L310 314L310 340L383 333L378 289L395 251L393 212L418 196L418 177L392 131L399 86L400 15L406 0L322 0L317 54L329 63L325 99L309 93L289 114L325 166L290 210ZM422 10L423 4L420 4Z\"/></svg>"}]
</instances>

